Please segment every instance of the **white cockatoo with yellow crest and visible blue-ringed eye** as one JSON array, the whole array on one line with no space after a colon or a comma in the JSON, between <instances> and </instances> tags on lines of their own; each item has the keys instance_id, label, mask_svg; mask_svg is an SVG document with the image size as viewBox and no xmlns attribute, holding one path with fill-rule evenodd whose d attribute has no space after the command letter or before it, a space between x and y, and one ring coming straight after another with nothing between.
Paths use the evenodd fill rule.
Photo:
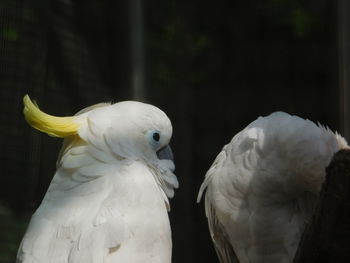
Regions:
<instances>
[{"instance_id":1,"label":"white cockatoo with yellow crest and visible blue-ringed eye","mask_svg":"<svg viewBox=\"0 0 350 263\"><path fill-rule=\"evenodd\" d=\"M17 262L170 263L168 198L178 181L165 113L135 101L72 117L48 115L27 95L24 105L31 126L65 140Z\"/></svg>"}]
</instances>

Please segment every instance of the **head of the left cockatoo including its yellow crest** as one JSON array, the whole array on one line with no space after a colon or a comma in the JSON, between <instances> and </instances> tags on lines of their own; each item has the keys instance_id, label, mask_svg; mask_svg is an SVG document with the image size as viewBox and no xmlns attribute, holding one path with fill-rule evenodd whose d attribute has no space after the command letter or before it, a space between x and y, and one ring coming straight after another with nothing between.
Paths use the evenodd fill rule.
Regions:
<instances>
[{"instance_id":1,"label":"head of the left cockatoo including its yellow crest","mask_svg":"<svg viewBox=\"0 0 350 263\"><path fill-rule=\"evenodd\" d=\"M171 122L155 106L136 101L101 103L74 116L55 117L42 112L28 95L23 100L27 122L40 131L56 137L78 136L116 160L143 161L156 173L174 170L168 146ZM177 188L177 181L171 184L171 190ZM173 195L173 190L165 192L168 197Z\"/></svg>"}]
</instances>

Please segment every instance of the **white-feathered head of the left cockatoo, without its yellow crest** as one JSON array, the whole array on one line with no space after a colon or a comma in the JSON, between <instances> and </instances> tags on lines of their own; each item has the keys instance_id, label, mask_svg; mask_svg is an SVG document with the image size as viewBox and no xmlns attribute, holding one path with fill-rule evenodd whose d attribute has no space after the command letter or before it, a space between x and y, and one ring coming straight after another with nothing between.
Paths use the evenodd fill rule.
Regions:
<instances>
[{"instance_id":1,"label":"white-feathered head of the left cockatoo, without its yellow crest","mask_svg":"<svg viewBox=\"0 0 350 263\"><path fill-rule=\"evenodd\" d=\"M83 140L97 148L107 146L116 156L127 159L155 161L172 135L170 120L163 111L136 101L87 109L78 113L75 122Z\"/></svg>"}]
</instances>

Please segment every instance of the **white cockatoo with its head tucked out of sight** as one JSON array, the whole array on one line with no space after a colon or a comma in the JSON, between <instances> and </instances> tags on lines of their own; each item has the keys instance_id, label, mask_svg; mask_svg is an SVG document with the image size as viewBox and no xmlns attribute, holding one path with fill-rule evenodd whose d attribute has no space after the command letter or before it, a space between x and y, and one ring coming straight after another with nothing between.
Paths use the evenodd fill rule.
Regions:
<instances>
[{"instance_id":1,"label":"white cockatoo with its head tucked out of sight","mask_svg":"<svg viewBox=\"0 0 350 263\"><path fill-rule=\"evenodd\" d=\"M293 262L335 152L339 134L275 112L260 117L224 146L207 172L210 234L221 263Z\"/></svg>"}]
</instances>

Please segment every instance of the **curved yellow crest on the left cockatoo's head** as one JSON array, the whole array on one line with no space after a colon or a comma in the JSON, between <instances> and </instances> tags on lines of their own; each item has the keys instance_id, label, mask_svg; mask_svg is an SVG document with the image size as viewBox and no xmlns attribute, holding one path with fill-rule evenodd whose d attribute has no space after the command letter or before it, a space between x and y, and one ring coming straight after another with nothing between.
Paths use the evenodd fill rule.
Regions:
<instances>
[{"instance_id":1,"label":"curved yellow crest on the left cockatoo's head","mask_svg":"<svg viewBox=\"0 0 350 263\"><path fill-rule=\"evenodd\" d=\"M42 112L28 95L23 97L24 117L35 129L54 137L66 137L77 134L79 125L75 117L56 117Z\"/></svg>"}]
</instances>

